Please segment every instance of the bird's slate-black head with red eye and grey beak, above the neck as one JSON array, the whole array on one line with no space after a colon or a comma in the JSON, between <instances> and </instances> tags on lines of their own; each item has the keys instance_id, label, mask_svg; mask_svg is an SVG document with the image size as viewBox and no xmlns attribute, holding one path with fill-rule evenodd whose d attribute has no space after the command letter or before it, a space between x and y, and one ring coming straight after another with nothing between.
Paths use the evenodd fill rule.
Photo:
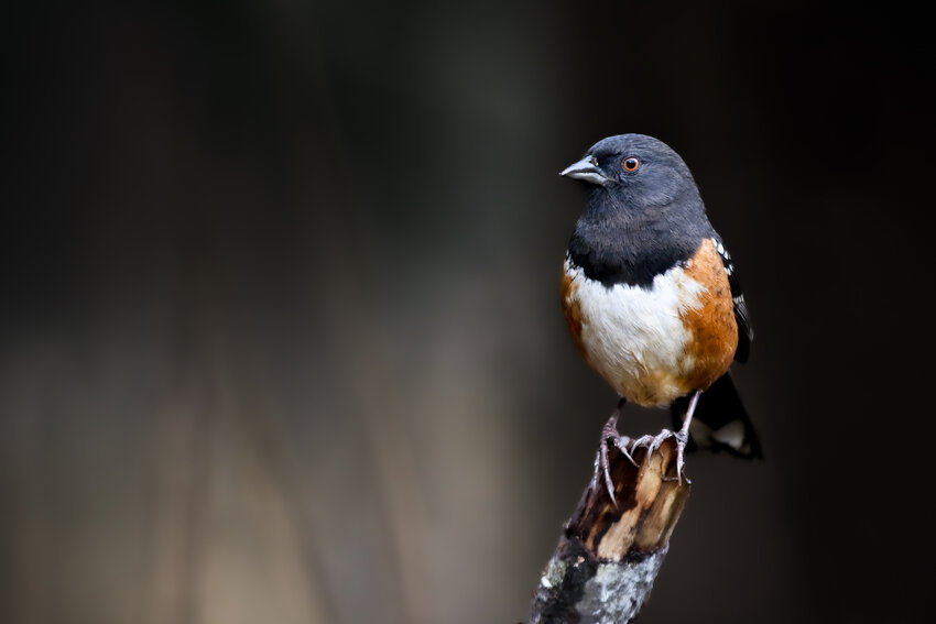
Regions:
<instances>
[{"instance_id":1,"label":"bird's slate-black head with red eye and grey beak, above the neck","mask_svg":"<svg viewBox=\"0 0 936 624\"><path fill-rule=\"evenodd\" d=\"M602 139L560 175L594 185L608 196L601 202L605 208L633 216L650 217L673 205L686 207L686 199L700 205L696 183L679 154L645 134Z\"/></svg>"}]
</instances>

